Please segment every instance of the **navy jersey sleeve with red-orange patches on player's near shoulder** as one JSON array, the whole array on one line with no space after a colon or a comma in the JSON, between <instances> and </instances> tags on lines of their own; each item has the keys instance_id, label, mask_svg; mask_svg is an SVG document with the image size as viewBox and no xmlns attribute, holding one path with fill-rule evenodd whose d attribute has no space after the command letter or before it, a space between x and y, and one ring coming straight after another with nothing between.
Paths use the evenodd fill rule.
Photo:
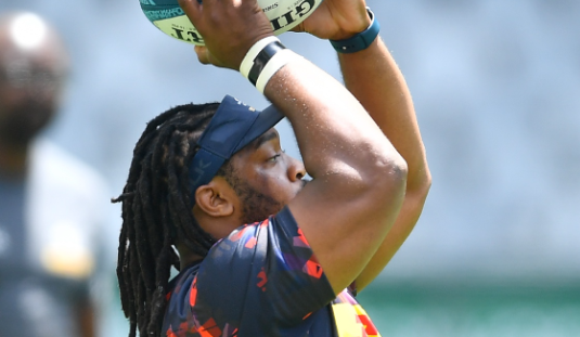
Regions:
<instances>
[{"instance_id":1,"label":"navy jersey sleeve with red-orange patches on player's near shoulder","mask_svg":"<svg viewBox=\"0 0 580 337\"><path fill-rule=\"evenodd\" d=\"M335 298L288 208L220 241L199 265L194 286L192 313L201 324L214 320L220 329L265 335L269 326L300 324Z\"/></svg>"}]
</instances>

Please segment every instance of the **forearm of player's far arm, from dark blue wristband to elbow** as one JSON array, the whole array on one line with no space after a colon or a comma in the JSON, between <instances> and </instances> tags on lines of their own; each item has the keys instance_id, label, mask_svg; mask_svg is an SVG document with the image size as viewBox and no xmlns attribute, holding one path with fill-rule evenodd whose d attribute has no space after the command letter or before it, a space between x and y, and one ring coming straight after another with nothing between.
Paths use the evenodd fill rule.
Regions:
<instances>
[{"instance_id":1,"label":"forearm of player's far arm, from dark blue wristband to elbow","mask_svg":"<svg viewBox=\"0 0 580 337\"><path fill-rule=\"evenodd\" d=\"M405 159L407 190L424 189L430 176L413 101L387 47L377 37L368 49L339 54L338 60L348 90Z\"/></svg>"}]
</instances>

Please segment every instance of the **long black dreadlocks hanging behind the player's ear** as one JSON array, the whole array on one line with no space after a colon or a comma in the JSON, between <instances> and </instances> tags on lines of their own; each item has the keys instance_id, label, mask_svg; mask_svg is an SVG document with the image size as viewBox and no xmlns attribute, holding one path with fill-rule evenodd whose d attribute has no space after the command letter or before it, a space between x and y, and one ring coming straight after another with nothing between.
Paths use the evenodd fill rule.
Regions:
<instances>
[{"instance_id":1,"label":"long black dreadlocks hanging behind the player's ear","mask_svg":"<svg viewBox=\"0 0 580 337\"><path fill-rule=\"evenodd\" d=\"M175 238L202 257L216 242L191 211L189 163L218 106L179 105L151 120L123 194L112 200L123 203L117 278L130 337L138 328L140 336L160 335L171 267L180 270Z\"/></svg>"}]
</instances>

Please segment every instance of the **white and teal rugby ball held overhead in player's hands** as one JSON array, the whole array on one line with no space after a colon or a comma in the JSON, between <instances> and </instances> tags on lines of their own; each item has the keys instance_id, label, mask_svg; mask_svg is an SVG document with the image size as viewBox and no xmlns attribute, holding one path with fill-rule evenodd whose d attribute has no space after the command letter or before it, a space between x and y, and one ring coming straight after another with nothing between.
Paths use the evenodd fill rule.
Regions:
<instances>
[{"instance_id":1,"label":"white and teal rugby ball held overhead in player's hands","mask_svg":"<svg viewBox=\"0 0 580 337\"><path fill-rule=\"evenodd\" d=\"M306 20L322 1L258 0L258 4L270 20L274 35L281 35ZM145 16L159 30L180 41L204 46L204 39L179 7L178 0L139 0L139 2Z\"/></svg>"}]
</instances>

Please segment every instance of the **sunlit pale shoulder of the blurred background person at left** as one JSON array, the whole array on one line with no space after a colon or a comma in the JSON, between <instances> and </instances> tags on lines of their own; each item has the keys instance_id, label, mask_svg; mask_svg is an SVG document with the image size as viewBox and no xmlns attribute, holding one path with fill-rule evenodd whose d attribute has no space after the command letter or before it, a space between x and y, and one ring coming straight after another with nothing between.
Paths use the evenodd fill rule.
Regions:
<instances>
[{"instance_id":1,"label":"sunlit pale shoulder of the blurred background person at left","mask_svg":"<svg viewBox=\"0 0 580 337\"><path fill-rule=\"evenodd\" d=\"M44 139L33 144L29 160L26 213L39 245L65 224L78 233L67 237L76 237L79 245L101 245L117 237L112 226L104 225L113 217L111 192L95 169Z\"/></svg>"}]
</instances>

